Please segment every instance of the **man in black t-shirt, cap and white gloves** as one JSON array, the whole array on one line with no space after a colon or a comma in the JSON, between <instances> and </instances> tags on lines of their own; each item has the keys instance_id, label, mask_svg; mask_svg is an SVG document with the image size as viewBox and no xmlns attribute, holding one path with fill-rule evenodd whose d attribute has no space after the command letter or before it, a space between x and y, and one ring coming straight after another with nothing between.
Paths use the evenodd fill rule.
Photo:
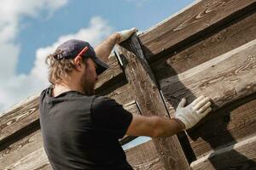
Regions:
<instances>
[{"instance_id":1,"label":"man in black t-shirt, cap and white gloves","mask_svg":"<svg viewBox=\"0 0 256 170\"><path fill-rule=\"evenodd\" d=\"M132 169L119 139L165 137L193 127L211 111L204 96L186 106L182 99L172 119L132 115L113 99L94 95L98 75L116 43L135 28L113 33L95 51L88 42L69 40L47 57L52 86L40 95L40 124L44 150L54 169ZM97 56L100 56L99 59Z\"/></svg>"}]
</instances>

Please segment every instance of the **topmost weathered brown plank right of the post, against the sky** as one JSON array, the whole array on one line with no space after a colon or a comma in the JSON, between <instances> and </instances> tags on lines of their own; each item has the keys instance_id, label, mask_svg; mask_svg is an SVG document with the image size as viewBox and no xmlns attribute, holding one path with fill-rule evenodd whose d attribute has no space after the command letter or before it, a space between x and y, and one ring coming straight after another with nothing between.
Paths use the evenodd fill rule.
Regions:
<instances>
[{"instance_id":1,"label":"topmost weathered brown plank right of the post, against the sky","mask_svg":"<svg viewBox=\"0 0 256 170\"><path fill-rule=\"evenodd\" d=\"M201 0L141 34L143 52L152 60L158 54L182 47L224 22L255 8L255 0Z\"/></svg>"}]
</instances>

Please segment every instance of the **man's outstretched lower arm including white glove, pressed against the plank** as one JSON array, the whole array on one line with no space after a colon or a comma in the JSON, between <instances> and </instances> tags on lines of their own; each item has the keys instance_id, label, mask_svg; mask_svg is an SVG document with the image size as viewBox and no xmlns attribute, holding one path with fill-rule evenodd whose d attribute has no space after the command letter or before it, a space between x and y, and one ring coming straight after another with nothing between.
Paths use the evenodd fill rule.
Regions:
<instances>
[{"instance_id":1,"label":"man's outstretched lower arm including white glove, pressed against the plank","mask_svg":"<svg viewBox=\"0 0 256 170\"><path fill-rule=\"evenodd\" d=\"M126 134L131 136L167 137L189 129L212 111L210 99L201 96L190 105L184 107L186 100L182 99L177 106L175 118L166 119L160 116L133 115Z\"/></svg>"}]
</instances>

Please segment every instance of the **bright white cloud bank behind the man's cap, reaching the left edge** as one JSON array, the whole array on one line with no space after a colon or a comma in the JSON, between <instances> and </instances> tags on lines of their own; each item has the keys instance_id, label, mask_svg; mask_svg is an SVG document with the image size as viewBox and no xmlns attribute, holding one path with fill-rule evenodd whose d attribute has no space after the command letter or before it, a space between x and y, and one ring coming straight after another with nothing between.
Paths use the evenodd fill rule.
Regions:
<instances>
[{"instance_id":1,"label":"bright white cloud bank behind the man's cap, reaching the left edge","mask_svg":"<svg viewBox=\"0 0 256 170\"><path fill-rule=\"evenodd\" d=\"M95 46L112 31L113 28L108 25L106 20L102 20L101 17L94 17L90 20L90 26L87 28L82 28L76 33L59 37L56 42L48 47L38 48L34 66L29 74L15 75L14 70L9 68L9 71L12 71L9 74L9 78L0 79L0 111L8 109L10 105L18 103L21 99L25 99L49 85L44 59L48 54L52 54L55 48L62 42L74 38L90 42L92 46Z\"/></svg>"}]
</instances>

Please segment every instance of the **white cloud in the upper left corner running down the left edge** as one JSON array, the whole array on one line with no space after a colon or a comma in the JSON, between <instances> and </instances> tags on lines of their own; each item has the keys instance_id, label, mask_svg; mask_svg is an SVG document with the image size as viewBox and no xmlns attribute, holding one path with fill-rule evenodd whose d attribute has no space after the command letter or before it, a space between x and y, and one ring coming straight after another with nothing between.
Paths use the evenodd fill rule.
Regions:
<instances>
[{"instance_id":1,"label":"white cloud in the upper left corner running down the left edge","mask_svg":"<svg viewBox=\"0 0 256 170\"><path fill-rule=\"evenodd\" d=\"M0 0L0 79L11 77L20 54L19 43L15 42L20 31L20 20L27 17L36 17L45 11L52 14L61 8L67 0Z\"/></svg>"}]
</instances>

